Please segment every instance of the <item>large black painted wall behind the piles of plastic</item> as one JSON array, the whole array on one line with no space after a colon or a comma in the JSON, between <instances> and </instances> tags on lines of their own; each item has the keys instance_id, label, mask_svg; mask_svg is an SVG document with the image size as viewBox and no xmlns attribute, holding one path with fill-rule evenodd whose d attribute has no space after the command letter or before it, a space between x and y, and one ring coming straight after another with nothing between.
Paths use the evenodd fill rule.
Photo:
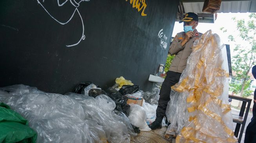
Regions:
<instances>
[{"instance_id":1,"label":"large black painted wall behind the piles of plastic","mask_svg":"<svg viewBox=\"0 0 256 143\"><path fill-rule=\"evenodd\" d=\"M78 1L78 0L76 0ZM80 1L80 0L79 0ZM68 0L39 0L58 21L75 8ZM65 0L60 0L65 2ZM36 0L0 1L0 87L35 86L53 93L71 91L93 81L107 88L123 76L151 91L149 74L165 64L179 0L145 0L141 16L130 0L90 0L77 7L67 24L55 21ZM159 31L167 40L160 46Z\"/></svg>"}]
</instances>

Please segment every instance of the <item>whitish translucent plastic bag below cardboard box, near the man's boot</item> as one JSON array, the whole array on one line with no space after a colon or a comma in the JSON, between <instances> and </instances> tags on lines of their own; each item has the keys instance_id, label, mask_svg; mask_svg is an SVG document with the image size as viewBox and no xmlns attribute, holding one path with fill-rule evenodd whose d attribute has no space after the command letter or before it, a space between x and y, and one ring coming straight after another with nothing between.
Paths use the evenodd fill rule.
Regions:
<instances>
[{"instance_id":1,"label":"whitish translucent plastic bag below cardboard box, near the man's boot","mask_svg":"<svg viewBox=\"0 0 256 143\"><path fill-rule=\"evenodd\" d=\"M133 124L136 127L139 127L140 130L149 131L150 128L146 123L145 109L143 107L141 107L140 105L131 104L131 111L130 111L128 118L129 118L131 124Z\"/></svg>"}]
</instances>

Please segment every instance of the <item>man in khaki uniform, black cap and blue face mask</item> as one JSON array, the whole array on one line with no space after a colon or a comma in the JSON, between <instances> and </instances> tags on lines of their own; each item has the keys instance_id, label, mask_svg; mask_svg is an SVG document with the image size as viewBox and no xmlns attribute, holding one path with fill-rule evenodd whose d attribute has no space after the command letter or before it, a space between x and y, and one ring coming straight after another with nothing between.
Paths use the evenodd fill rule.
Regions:
<instances>
[{"instance_id":1,"label":"man in khaki uniform, black cap and blue face mask","mask_svg":"<svg viewBox=\"0 0 256 143\"><path fill-rule=\"evenodd\" d=\"M180 21L183 22L184 31L178 33L169 47L169 53L175 55L172 60L169 71L163 81L158 107L156 109L156 120L149 127L151 129L161 129L162 120L165 115L167 104L170 100L171 86L179 82L182 71L186 68L187 58L192 52L192 46L196 39L200 38L202 33L196 30L198 25L198 16L195 13L187 13Z\"/></svg>"}]
</instances>

